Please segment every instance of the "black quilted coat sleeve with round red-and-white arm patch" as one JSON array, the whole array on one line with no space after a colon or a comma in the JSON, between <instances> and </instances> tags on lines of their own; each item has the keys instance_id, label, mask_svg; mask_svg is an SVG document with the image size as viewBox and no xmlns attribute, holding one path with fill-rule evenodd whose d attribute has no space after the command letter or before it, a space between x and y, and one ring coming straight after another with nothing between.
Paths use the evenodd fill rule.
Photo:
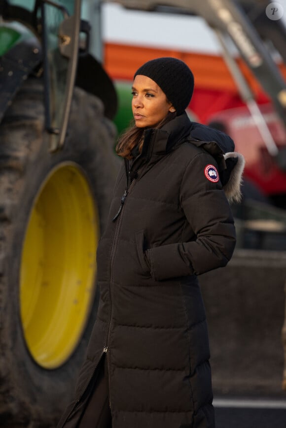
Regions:
<instances>
[{"instance_id":1,"label":"black quilted coat sleeve with round red-and-white arm patch","mask_svg":"<svg viewBox=\"0 0 286 428\"><path fill-rule=\"evenodd\" d=\"M196 239L147 251L151 275L156 280L199 275L225 266L234 251L233 217L211 155L197 154L187 166L179 197Z\"/></svg>"}]
</instances>

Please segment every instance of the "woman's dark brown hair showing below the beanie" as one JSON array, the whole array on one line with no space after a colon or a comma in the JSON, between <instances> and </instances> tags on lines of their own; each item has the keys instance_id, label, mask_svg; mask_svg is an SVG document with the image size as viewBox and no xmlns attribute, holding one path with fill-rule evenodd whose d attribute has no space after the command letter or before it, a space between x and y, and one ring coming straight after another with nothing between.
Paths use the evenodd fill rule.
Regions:
<instances>
[{"instance_id":1,"label":"woman's dark brown hair showing below the beanie","mask_svg":"<svg viewBox=\"0 0 286 428\"><path fill-rule=\"evenodd\" d=\"M155 127L155 129L160 129L170 120L174 119L177 116L176 112L168 112L167 116L161 120L161 122ZM132 159L132 150L134 147L139 145L139 153L142 152L143 142L144 142L144 132L147 128L138 128L136 125L132 125L127 129L122 135L119 136L118 142L116 144L116 153L122 158Z\"/></svg>"}]
</instances>

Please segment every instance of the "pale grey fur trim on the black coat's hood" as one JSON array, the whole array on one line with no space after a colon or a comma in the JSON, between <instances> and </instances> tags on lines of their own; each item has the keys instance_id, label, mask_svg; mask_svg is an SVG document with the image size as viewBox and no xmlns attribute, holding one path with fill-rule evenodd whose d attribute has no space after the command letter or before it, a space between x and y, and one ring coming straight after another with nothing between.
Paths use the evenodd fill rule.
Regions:
<instances>
[{"instance_id":1,"label":"pale grey fur trim on the black coat's hood","mask_svg":"<svg viewBox=\"0 0 286 428\"><path fill-rule=\"evenodd\" d=\"M225 196L229 203L240 202L242 199L241 184L242 174L245 166L244 157L237 152L229 152L223 155L225 163L227 165L227 159L235 159L236 165L231 169L227 182L223 185Z\"/></svg>"}]
</instances>

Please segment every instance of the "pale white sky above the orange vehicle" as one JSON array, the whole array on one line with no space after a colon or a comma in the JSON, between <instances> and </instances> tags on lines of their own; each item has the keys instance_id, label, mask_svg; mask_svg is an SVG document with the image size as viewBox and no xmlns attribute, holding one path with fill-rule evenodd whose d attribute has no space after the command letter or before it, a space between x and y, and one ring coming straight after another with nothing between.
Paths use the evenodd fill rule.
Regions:
<instances>
[{"instance_id":1,"label":"pale white sky above the orange vehicle","mask_svg":"<svg viewBox=\"0 0 286 428\"><path fill-rule=\"evenodd\" d=\"M286 21L286 0L277 2L284 8L282 19ZM138 12L114 3L103 5L103 37L109 42L213 54L220 52L213 31L203 18Z\"/></svg>"}]
</instances>

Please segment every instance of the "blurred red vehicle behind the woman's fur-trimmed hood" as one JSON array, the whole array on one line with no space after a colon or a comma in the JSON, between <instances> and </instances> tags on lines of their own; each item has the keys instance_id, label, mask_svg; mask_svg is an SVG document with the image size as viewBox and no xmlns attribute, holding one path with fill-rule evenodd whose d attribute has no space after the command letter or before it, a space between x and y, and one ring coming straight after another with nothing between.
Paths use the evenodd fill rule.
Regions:
<instances>
[{"instance_id":1,"label":"blurred red vehicle behind the woman's fur-trimmed hood","mask_svg":"<svg viewBox=\"0 0 286 428\"><path fill-rule=\"evenodd\" d=\"M283 153L286 150L286 132L282 121L271 104L262 104L259 108L278 153ZM243 153L246 160L245 177L270 197L275 205L286 207L286 172L285 165L280 163L283 157L281 159L279 154L272 156L269 153L248 107L215 113L209 118L209 124L217 127L221 125L232 136L236 149Z\"/></svg>"}]
</instances>

